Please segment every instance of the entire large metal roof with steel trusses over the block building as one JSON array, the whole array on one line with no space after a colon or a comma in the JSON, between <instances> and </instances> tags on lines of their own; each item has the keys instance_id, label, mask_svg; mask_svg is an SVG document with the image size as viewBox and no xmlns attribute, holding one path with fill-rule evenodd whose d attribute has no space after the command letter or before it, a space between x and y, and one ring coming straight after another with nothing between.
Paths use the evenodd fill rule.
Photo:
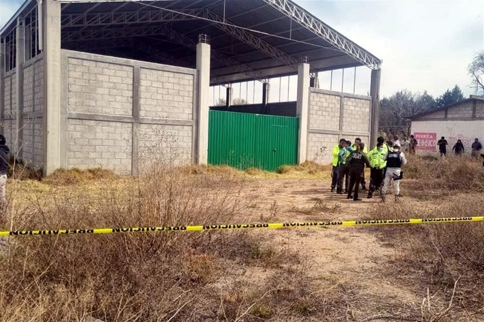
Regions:
<instances>
[{"instance_id":1,"label":"entire large metal roof with steel trusses over the block building","mask_svg":"<svg viewBox=\"0 0 484 322\"><path fill-rule=\"evenodd\" d=\"M115 48L116 44L119 45L118 48L138 49L133 44L140 41L146 44L146 39L137 39L135 42L112 39L159 37L159 41L165 42L164 45L166 41L174 42L183 48L191 49L191 54L179 47L163 46L161 50L150 41L151 47L158 49L155 50L156 55L151 55L152 58L163 63L172 63L175 60L188 62L194 60L196 39L188 36L186 31L177 30L173 23L197 22L198 25L194 25L190 30L192 34L207 33L203 31L210 29L209 25L214 26L216 29L210 29L213 32L208 33L213 40L212 85L250 79L267 82L268 76L295 74L297 64L301 57L305 56L309 59L313 75L317 71L361 65L379 69L381 64L381 60L375 55L290 0L247 0L243 4L249 8L244 7L247 10L239 10L241 4L235 0L58 1L62 3L62 46L75 50L93 48L94 39L105 40L105 45L98 47L104 52L106 48ZM34 1L26 1L19 9L16 16L0 31L2 38L7 35L6 32L15 28L12 22L16 17L26 15L27 8L36 8ZM267 19L258 20L257 17L254 18L257 15L269 15L270 19L268 16ZM203 23L200 25L201 22ZM160 23L163 24L160 26ZM277 25L277 28L273 25ZM32 39L35 38L37 37ZM227 43L227 39L230 40L230 44ZM220 41L221 44L215 44L215 41ZM84 42L89 42L90 45ZM101 42L98 43L101 45ZM304 48L294 51L294 45L297 46L298 43ZM240 49L233 51L234 47ZM291 50L288 50L288 47L291 47ZM143 48L146 49L146 46ZM160 51L165 54L159 55ZM332 54L332 51L335 53ZM184 55L192 59L183 59ZM254 57L248 60L247 56ZM174 57L176 59L172 59ZM194 63L191 63L186 66L193 65Z\"/></svg>"}]
</instances>

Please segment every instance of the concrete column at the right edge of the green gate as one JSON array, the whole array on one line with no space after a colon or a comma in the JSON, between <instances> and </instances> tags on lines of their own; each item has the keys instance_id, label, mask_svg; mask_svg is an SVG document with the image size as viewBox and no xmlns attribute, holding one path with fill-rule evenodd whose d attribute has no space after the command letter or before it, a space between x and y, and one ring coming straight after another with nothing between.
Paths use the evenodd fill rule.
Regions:
<instances>
[{"instance_id":1,"label":"concrete column at the right edge of the green gate","mask_svg":"<svg viewBox=\"0 0 484 322\"><path fill-rule=\"evenodd\" d=\"M299 137L297 143L297 162L306 161L308 150L308 113L309 113L309 68L308 63L297 67L297 103L296 116L299 118Z\"/></svg>"}]
</instances>

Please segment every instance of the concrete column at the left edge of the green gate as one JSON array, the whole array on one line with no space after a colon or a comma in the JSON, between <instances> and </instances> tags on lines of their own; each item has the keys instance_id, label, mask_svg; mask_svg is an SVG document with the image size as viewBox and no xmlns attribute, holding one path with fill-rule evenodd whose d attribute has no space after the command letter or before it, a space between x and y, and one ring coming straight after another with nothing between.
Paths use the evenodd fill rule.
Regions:
<instances>
[{"instance_id":1,"label":"concrete column at the left edge of the green gate","mask_svg":"<svg viewBox=\"0 0 484 322\"><path fill-rule=\"evenodd\" d=\"M210 45L197 45L198 106L197 106L197 163L208 162L208 111L210 93Z\"/></svg>"}]
</instances>

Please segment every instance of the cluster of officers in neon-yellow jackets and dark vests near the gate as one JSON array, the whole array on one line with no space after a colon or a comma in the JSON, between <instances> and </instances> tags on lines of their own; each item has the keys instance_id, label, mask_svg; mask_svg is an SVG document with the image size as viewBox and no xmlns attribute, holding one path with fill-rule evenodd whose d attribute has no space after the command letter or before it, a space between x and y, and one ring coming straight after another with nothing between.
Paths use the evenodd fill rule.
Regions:
<instances>
[{"instance_id":1,"label":"cluster of officers in neon-yellow jackets and dark vests near the gate","mask_svg":"<svg viewBox=\"0 0 484 322\"><path fill-rule=\"evenodd\" d=\"M370 168L367 198L372 198L373 193L378 191L382 201L385 201L386 193L393 183L395 201L398 200L400 180L403 178L402 167L407 163L405 154L401 151L402 145L398 139L385 143L385 139L381 136L377 141L377 146L368 151L358 137L353 145L346 139L339 140L339 144L333 148L331 192L336 190L337 194L343 194L344 187L347 199L361 201L359 185L366 190L365 167L367 167ZM416 140L412 143L414 148Z\"/></svg>"}]
</instances>

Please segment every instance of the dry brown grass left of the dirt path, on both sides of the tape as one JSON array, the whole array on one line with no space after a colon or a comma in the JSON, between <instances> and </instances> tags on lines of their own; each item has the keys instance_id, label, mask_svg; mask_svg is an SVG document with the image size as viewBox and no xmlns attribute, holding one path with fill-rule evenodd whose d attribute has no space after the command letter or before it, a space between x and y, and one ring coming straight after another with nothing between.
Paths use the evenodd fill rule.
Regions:
<instances>
[{"instance_id":1,"label":"dry brown grass left of the dirt path, on both sides of the tape","mask_svg":"<svg viewBox=\"0 0 484 322\"><path fill-rule=\"evenodd\" d=\"M44 181L55 193L12 208L11 227L0 228L230 222L248 211L240 194L244 179L232 170L218 170L160 166L125 179L122 186L101 170L58 171ZM85 185L90 180L97 180L94 192ZM207 193L211 187L223 193ZM84 321L90 316L113 322L296 321L301 316L334 320L344 314L332 309L341 298L329 287L320 289L299 255L249 232L3 240L2 322Z\"/></svg>"}]
</instances>

